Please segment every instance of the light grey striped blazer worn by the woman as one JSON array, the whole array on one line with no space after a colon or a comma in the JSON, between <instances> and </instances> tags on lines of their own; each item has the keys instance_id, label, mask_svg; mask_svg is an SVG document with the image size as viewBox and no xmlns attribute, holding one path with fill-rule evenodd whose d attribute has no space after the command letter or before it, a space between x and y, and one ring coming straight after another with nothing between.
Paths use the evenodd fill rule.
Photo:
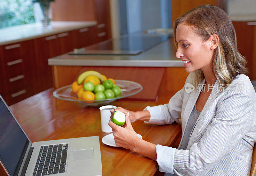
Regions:
<instances>
[{"instance_id":1,"label":"light grey striped blazer worn by the woman","mask_svg":"<svg viewBox=\"0 0 256 176\"><path fill-rule=\"evenodd\" d=\"M190 76L190 75L189 75ZM187 83L168 104L146 107L150 120L145 123L179 123L184 133L188 117L202 88L189 92ZM200 83L204 84L205 79ZM249 175L256 142L256 93L248 76L236 76L223 91L218 81L190 134L187 150L156 146L161 172L176 175ZM242 88L241 88L242 87ZM183 142L181 139L180 145Z\"/></svg>"}]
</instances>

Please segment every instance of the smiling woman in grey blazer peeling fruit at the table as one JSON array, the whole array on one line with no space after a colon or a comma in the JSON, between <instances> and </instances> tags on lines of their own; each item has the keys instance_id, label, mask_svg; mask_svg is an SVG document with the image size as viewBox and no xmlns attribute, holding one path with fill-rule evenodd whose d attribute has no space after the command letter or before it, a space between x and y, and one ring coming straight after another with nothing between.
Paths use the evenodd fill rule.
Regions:
<instances>
[{"instance_id":1,"label":"smiling woman in grey blazer peeling fruit at the table","mask_svg":"<svg viewBox=\"0 0 256 176\"><path fill-rule=\"evenodd\" d=\"M212 5L198 6L173 25L176 57L190 74L168 104L126 114L126 128L109 121L116 145L157 161L174 175L249 175L256 141L256 94L237 51L236 33L227 14ZM194 85L194 91L187 91ZM113 113L113 112L111 112ZM137 137L131 122L179 123L178 149ZM161 134L159 134L161 135Z\"/></svg>"}]
</instances>

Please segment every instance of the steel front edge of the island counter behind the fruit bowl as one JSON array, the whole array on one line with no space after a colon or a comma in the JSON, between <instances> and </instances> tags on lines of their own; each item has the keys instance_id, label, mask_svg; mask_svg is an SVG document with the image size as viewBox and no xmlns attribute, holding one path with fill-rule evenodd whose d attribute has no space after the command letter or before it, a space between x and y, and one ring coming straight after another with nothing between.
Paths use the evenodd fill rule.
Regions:
<instances>
[{"instance_id":1,"label":"steel front edge of the island counter behind the fruit bowl","mask_svg":"<svg viewBox=\"0 0 256 176\"><path fill-rule=\"evenodd\" d=\"M66 60L48 59L51 66L185 67L181 60Z\"/></svg>"}]
</instances>

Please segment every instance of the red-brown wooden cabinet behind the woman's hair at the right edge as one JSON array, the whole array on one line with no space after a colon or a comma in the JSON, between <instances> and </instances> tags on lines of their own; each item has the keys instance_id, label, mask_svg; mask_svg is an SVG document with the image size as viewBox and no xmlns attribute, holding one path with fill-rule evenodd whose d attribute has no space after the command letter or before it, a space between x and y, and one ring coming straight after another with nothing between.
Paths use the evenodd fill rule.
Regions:
<instances>
[{"instance_id":1,"label":"red-brown wooden cabinet behind the woman's hair at the right edge","mask_svg":"<svg viewBox=\"0 0 256 176\"><path fill-rule=\"evenodd\" d=\"M249 78L256 80L256 22L233 21L236 30L237 48L246 58Z\"/></svg>"}]
</instances>

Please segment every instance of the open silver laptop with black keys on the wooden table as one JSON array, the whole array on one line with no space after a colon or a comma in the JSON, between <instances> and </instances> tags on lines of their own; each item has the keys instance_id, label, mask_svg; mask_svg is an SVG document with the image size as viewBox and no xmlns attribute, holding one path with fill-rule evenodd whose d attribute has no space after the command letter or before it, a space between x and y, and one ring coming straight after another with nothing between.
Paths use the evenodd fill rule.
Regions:
<instances>
[{"instance_id":1,"label":"open silver laptop with black keys on the wooden table","mask_svg":"<svg viewBox=\"0 0 256 176\"><path fill-rule=\"evenodd\" d=\"M0 163L9 176L102 175L98 136L31 143L1 95Z\"/></svg>"}]
</instances>

